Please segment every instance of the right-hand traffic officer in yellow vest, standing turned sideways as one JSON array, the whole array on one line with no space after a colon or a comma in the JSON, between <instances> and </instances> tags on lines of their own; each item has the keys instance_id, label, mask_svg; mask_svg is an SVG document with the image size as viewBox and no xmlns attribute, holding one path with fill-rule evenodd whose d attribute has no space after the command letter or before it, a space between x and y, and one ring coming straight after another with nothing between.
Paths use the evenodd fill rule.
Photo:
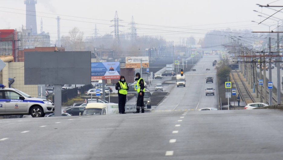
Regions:
<instances>
[{"instance_id":1,"label":"right-hand traffic officer in yellow vest, standing turned sideways","mask_svg":"<svg viewBox=\"0 0 283 160\"><path fill-rule=\"evenodd\" d=\"M139 113L141 109L141 113L145 113L145 104L143 102L143 98L145 95L145 81L141 78L140 73L136 73L136 78L135 81L137 82L138 85L138 99L137 99L137 111L133 113Z\"/></svg>"}]
</instances>

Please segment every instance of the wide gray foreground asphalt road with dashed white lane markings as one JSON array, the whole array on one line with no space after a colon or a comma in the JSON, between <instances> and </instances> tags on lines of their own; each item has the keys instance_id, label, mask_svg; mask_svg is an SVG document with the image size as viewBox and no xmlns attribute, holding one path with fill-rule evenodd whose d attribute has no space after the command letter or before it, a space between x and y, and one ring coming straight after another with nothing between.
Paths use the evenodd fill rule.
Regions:
<instances>
[{"instance_id":1,"label":"wide gray foreground asphalt road with dashed white lane markings","mask_svg":"<svg viewBox=\"0 0 283 160\"><path fill-rule=\"evenodd\" d=\"M278 110L2 119L0 157L282 159L282 121L282 111Z\"/></svg>"}]
</instances>

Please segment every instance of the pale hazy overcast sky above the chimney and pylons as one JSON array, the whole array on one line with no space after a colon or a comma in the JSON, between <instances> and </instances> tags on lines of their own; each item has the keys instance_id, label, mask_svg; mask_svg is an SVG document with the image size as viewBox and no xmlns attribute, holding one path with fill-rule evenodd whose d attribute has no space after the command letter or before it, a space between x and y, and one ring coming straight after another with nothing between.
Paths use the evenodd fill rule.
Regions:
<instances>
[{"instance_id":1,"label":"pale hazy overcast sky above the chimney and pylons","mask_svg":"<svg viewBox=\"0 0 283 160\"><path fill-rule=\"evenodd\" d=\"M67 35L73 27L80 28L80 30L85 32L85 36L93 36L95 24L99 34L110 34L114 30L114 27L109 26L113 25L110 20L114 18L115 11L118 12L119 18L123 20L120 24L125 26L119 27L119 30L125 34L130 31L128 23L134 16L138 35L161 36L168 41L174 40L177 42L180 41L180 37L190 37L191 35L200 39L204 37L207 31L226 28L268 31L268 26L251 22L263 20L263 18L258 16L260 13L253 10L271 15L275 11L261 8L256 4L266 5L274 1L37 0L37 32L40 32L40 21L43 18L43 30L50 33L51 40L57 39L56 17L59 15L61 18L61 36ZM24 0L0 0L0 4L1 29L15 29L21 27L21 25L25 26ZM283 0L270 5L283 5ZM281 8L274 9L280 10ZM283 19L283 13L279 12L274 17ZM267 20L264 24L277 25L277 21ZM275 27L272 26L271 29Z\"/></svg>"}]
</instances>

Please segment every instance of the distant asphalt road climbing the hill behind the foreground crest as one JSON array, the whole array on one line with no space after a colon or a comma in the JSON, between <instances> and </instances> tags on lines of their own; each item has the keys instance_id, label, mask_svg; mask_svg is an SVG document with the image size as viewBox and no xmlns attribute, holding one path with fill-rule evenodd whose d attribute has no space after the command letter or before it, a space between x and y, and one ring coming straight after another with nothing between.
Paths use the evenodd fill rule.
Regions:
<instances>
[{"instance_id":1,"label":"distant asphalt road climbing the hill behind the foreground crest","mask_svg":"<svg viewBox=\"0 0 283 160\"><path fill-rule=\"evenodd\" d=\"M186 72L186 87L177 87L171 85L168 97L156 107L156 110L184 110L184 109L200 109L205 107L214 107L218 109L216 70L212 66L212 62L218 56L203 56L202 59L194 66L196 71ZM210 69L210 70L206 70ZM213 83L206 83L206 77L212 76ZM176 83L172 81L172 83ZM215 88L215 95L205 95L207 87Z\"/></svg>"}]
</instances>

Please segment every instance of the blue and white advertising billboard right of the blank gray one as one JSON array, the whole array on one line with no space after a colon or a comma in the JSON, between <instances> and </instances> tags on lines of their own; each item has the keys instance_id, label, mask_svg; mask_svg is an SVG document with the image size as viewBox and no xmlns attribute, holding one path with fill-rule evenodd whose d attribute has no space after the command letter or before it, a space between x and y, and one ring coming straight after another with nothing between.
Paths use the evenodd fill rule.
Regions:
<instances>
[{"instance_id":1,"label":"blue and white advertising billboard right of the blank gray one","mask_svg":"<svg viewBox=\"0 0 283 160\"><path fill-rule=\"evenodd\" d=\"M120 62L91 63L91 79L120 79Z\"/></svg>"}]
</instances>

